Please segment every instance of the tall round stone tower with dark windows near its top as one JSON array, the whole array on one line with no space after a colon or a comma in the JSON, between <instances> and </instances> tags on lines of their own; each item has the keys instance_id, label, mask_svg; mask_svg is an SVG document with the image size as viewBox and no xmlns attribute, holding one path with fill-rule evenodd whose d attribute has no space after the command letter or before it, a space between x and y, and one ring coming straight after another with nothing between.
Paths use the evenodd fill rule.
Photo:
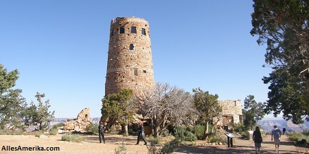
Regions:
<instances>
[{"instance_id":1,"label":"tall round stone tower with dark windows near its top","mask_svg":"<svg viewBox=\"0 0 309 154\"><path fill-rule=\"evenodd\" d=\"M122 89L139 94L154 85L148 21L134 16L112 19L105 95Z\"/></svg>"}]
</instances>

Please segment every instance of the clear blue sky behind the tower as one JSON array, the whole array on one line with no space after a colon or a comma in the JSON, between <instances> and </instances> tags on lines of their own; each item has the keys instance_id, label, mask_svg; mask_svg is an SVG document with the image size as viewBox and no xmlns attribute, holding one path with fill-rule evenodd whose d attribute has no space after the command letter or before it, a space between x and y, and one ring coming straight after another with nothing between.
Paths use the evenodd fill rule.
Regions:
<instances>
[{"instance_id":1,"label":"clear blue sky behind the tower","mask_svg":"<svg viewBox=\"0 0 309 154\"><path fill-rule=\"evenodd\" d=\"M250 35L253 2L0 1L0 64L18 69L14 88L36 102L45 93L56 118L85 107L100 117L112 18L136 16L150 26L155 81L218 100L267 100L266 46ZM267 116L267 117L271 117Z\"/></svg>"}]
</instances>

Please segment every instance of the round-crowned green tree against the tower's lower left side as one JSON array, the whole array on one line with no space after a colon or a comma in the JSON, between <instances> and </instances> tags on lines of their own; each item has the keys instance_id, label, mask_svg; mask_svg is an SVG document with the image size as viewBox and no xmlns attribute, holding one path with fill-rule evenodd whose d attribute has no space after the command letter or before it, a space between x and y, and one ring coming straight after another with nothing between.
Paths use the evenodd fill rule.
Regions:
<instances>
[{"instance_id":1,"label":"round-crowned green tree against the tower's lower left side","mask_svg":"<svg viewBox=\"0 0 309 154\"><path fill-rule=\"evenodd\" d=\"M108 94L102 99L102 118L108 118L110 123L118 122L126 136L128 136L128 123L133 121L135 113L133 97L133 90L124 89L115 94Z\"/></svg>"}]
</instances>

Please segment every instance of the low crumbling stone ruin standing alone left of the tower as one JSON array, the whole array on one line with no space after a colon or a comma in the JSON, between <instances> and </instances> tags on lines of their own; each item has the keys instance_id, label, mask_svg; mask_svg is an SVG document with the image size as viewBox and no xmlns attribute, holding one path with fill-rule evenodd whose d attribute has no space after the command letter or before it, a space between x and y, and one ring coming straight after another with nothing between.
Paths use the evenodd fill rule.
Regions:
<instances>
[{"instance_id":1,"label":"low crumbling stone ruin standing alone left of the tower","mask_svg":"<svg viewBox=\"0 0 309 154\"><path fill-rule=\"evenodd\" d=\"M90 125L90 109L84 108L77 116L76 119L67 119L65 123L65 130L74 130L74 131L85 131Z\"/></svg>"}]
</instances>

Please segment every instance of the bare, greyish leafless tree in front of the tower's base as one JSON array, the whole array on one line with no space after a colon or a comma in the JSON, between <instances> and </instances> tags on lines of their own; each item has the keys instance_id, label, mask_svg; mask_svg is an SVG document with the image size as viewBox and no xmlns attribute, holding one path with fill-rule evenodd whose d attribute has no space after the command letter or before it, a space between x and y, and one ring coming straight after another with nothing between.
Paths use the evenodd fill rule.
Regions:
<instances>
[{"instance_id":1,"label":"bare, greyish leafless tree in front of the tower's base","mask_svg":"<svg viewBox=\"0 0 309 154\"><path fill-rule=\"evenodd\" d=\"M187 123L194 110L191 94L169 84L156 83L137 99L143 116L151 118L153 136L160 136L169 125Z\"/></svg>"}]
</instances>

